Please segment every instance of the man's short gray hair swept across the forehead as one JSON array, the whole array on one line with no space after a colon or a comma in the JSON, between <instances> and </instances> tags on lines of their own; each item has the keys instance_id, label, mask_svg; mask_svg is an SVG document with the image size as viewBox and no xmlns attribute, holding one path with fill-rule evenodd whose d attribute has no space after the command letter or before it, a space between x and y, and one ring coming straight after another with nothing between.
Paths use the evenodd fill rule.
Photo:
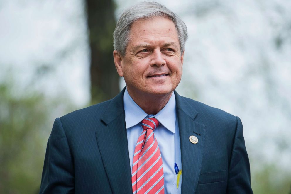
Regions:
<instances>
[{"instance_id":1,"label":"man's short gray hair swept across the forehead","mask_svg":"<svg viewBox=\"0 0 291 194\"><path fill-rule=\"evenodd\" d=\"M188 38L185 23L177 14L168 10L164 5L154 1L144 1L123 11L113 33L114 49L124 56L130 40L131 25L139 19L154 17L165 17L173 21L177 30L182 55L185 42Z\"/></svg>"}]
</instances>

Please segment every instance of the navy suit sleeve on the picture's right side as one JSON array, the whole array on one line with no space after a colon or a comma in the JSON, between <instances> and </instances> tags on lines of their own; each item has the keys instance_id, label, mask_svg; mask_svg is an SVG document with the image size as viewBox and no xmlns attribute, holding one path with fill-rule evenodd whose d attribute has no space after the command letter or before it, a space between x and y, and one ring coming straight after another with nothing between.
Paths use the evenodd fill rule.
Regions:
<instances>
[{"instance_id":1,"label":"navy suit sleeve on the picture's right side","mask_svg":"<svg viewBox=\"0 0 291 194\"><path fill-rule=\"evenodd\" d=\"M229 163L226 193L253 193L251 189L250 163L243 138L243 125L236 117L236 133Z\"/></svg>"}]
</instances>

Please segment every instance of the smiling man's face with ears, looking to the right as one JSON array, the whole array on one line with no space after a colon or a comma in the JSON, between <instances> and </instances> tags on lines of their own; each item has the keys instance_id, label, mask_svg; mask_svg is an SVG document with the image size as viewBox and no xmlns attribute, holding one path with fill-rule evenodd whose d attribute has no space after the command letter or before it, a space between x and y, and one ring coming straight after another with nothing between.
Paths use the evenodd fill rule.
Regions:
<instances>
[{"instance_id":1,"label":"smiling man's face with ears, looking to the right","mask_svg":"<svg viewBox=\"0 0 291 194\"><path fill-rule=\"evenodd\" d=\"M155 17L133 23L125 56L115 53L114 60L132 97L163 96L181 80L183 55L174 23Z\"/></svg>"}]
</instances>

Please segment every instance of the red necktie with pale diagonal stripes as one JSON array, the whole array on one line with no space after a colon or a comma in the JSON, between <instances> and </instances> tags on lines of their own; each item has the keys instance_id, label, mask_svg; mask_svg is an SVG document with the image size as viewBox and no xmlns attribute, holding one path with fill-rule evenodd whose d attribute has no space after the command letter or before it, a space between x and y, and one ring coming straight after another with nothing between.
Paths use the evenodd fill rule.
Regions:
<instances>
[{"instance_id":1,"label":"red necktie with pale diagonal stripes","mask_svg":"<svg viewBox=\"0 0 291 194\"><path fill-rule=\"evenodd\" d=\"M145 118L141 122L143 132L138 137L132 164L133 193L164 193L164 170L161 152L154 137L159 121Z\"/></svg>"}]
</instances>

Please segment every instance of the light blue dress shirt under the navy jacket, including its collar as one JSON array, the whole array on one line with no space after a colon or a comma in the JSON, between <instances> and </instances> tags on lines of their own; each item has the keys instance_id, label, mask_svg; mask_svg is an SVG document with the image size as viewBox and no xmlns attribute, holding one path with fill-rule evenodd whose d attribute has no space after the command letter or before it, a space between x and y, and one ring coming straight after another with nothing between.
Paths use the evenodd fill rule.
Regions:
<instances>
[{"instance_id":1,"label":"light blue dress shirt under the navy jacket, including its collar","mask_svg":"<svg viewBox=\"0 0 291 194\"><path fill-rule=\"evenodd\" d=\"M132 171L134 149L138 137L143 131L139 122L146 118L148 114L133 101L127 89L124 92L123 101L130 169ZM158 128L154 130L154 135L158 141L163 160L165 194L181 193L182 176L180 177L179 188L177 188L177 175L174 169L175 162L179 170L182 168L179 127L174 93L172 93L165 107L155 115L155 118L160 122Z\"/></svg>"}]
</instances>

